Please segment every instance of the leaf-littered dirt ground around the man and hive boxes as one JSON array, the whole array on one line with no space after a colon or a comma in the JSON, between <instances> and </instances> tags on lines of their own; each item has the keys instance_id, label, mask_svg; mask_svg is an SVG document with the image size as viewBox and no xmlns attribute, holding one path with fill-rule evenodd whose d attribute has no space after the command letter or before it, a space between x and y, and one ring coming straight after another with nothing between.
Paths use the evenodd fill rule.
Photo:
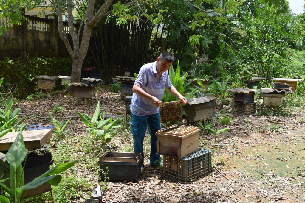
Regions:
<instances>
[{"instance_id":1,"label":"leaf-littered dirt ground around the man and hive boxes","mask_svg":"<svg viewBox=\"0 0 305 203\"><path fill-rule=\"evenodd\" d=\"M77 106L74 98L66 96L52 97L52 100L42 98L30 101L25 100L13 107L19 107L20 113L34 114L48 117L58 104L63 107L57 117L77 116L77 111L89 116L94 113L97 101L100 101L101 113L114 114L124 112L124 102L119 101L120 94L113 93L109 87L99 87L95 92L92 106ZM304 138L305 127L302 124L303 108L295 108L291 116L244 116L231 114L231 107L225 106L225 111L215 108L217 113L222 112L232 116L231 124L220 126L216 120L216 128L226 128L214 142L214 136L200 133L199 146L211 150L212 163L227 178L213 171L203 177L181 182L172 180L163 175L161 167L149 165L150 138L145 136L144 153L145 166L142 176L135 182L110 181L108 189L103 192L104 202L305 202L305 166L304 166ZM130 119L130 117L129 117ZM62 122L63 120L58 119ZM27 117L28 124L51 125L50 120ZM84 147L88 133L87 126L80 118L71 119L68 125L72 137L63 141L71 149L77 146ZM74 139L77 140L74 142ZM52 145L59 145L51 140ZM119 133L109 143L110 151L133 152L133 139L130 124L125 124ZM59 148L64 149L64 148ZM71 150L72 151L72 150ZM80 152L71 152L71 159L84 156ZM61 152L57 149L54 156ZM73 154L74 153L74 154ZM93 192L98 182L98 163L94 152L84 152L88 158L78 162L71 171L79 178L84 177L91 182L91 189L83 191L80 198L70 198L71 202L85 202ZM91 167L83 165L91 160ZM93 168L92 168L93 167ZM69 175L66 175L69 176ZM81 189L80 189L81 190Z\"/></svg>"}]
</instances>

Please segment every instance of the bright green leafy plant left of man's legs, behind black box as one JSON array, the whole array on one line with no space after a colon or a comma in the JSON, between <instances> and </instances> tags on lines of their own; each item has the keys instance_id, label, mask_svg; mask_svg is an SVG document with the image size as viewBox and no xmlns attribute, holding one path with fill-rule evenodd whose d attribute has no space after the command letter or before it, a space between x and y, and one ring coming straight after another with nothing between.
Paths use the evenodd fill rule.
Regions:
<instances>
[{"instance_id":1,"label":"bright green leafy plant left of man's legs, behind black box","mask_svg":"<svg viewBox=\"0 0 305 203\"><path fill-rule=\"evenodd\" d=\"M86 131L90 130L91 134L93 135L93 138L95 140L95 150L97 150L99 146L102 146L103 153L106 150L106 145L111 141L111 138L117 134L118 129L116 128L120 128L122 127L122 125L116 125L119 122L120 118L117 118L114 121L112 121L111 118L105 120L105 112L103 113L103 117L100 117L101 121L98 121L99 113L99 102L97 103L92 118L86 114L83 115L78 111L81 120L84 122L85 125L90 127L87 128ZM102 130L100 130L99 128L102 128ZM101 141L101 144L97 145L98 141Z\"/></svg>"}]
</instances>

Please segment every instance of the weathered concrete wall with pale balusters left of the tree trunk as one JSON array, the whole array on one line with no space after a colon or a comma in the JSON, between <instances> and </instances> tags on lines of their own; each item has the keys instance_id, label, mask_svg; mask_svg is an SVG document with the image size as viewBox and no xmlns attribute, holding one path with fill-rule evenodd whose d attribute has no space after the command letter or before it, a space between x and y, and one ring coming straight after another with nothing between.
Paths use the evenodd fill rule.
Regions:
<instances>
[{"instance_id":1,"label":"weathered concrete wall with pale balusters left of the tree trunk","mask_svg":"<svg viewBox=\"0 0 305 203\"><path fill-rule=\"evenodd\" d=\"M56 16L52 16L54 19L25 17L27 21L23 21L21 25L14 25L0 36L0 60L4 60L5 57L25 59L27 56L30 58L66 58L70 56L59 37ZM45 28L43 24L45 24ZM67 26L67 23L64 23L64 26ZM66 33L69 41L72 42L68 31Z\"/></svg>"}]
</instances>

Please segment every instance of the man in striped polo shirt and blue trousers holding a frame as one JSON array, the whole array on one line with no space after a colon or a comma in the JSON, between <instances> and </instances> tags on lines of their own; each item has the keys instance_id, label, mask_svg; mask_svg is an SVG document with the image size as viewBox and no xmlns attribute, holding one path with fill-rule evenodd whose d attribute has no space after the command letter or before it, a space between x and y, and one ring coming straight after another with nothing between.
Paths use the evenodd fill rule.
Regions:
<instances>
[{"instance_id":1,"label":"man in striped polo shirt and blue trousers holding a frame","mask_svg":"<svg viewBox=\"0 0 305 203\"><path fill-rule=\"evenodd\" d=\"M174 55L163 52L157 61L146 64L140 69L139 75L132 87L134 92L131 100L131 133L134 139L134 152L143 153L143 141L146 126L149 130L150 138L150 164L163 166L160 155L156 155L157 136L155 133L161 129L159 106L160 100L166 88L171 94L177 96L182 103L187 100L174 86L172 86L167 70L174 62ZM142 161L143 167L143 161Z\"/></svg>"}]
</instances>

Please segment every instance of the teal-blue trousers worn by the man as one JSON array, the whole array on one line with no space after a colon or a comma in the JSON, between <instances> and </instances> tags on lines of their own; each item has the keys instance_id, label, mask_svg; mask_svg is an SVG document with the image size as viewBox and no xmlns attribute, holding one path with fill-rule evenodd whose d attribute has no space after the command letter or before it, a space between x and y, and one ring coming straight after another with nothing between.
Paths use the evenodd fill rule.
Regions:
<instances>
[{"instance_id":1,"label":"teal-blue trousers worn by the man","mask_svg":"<svg viewBox=\"0 0 305 203\"><path fill-rule=\"evenodd\" d=\"M148 116L135 116L131 113L131 133L134 139L134 152L139 153L143 157L142 167L144 166L143 141L145 138L146 126L150 134L150 164L159 165L162 161L157 153L157 135L156 132L161 129L160 114L152 114Z\"/></svg>"}]
</instances>

